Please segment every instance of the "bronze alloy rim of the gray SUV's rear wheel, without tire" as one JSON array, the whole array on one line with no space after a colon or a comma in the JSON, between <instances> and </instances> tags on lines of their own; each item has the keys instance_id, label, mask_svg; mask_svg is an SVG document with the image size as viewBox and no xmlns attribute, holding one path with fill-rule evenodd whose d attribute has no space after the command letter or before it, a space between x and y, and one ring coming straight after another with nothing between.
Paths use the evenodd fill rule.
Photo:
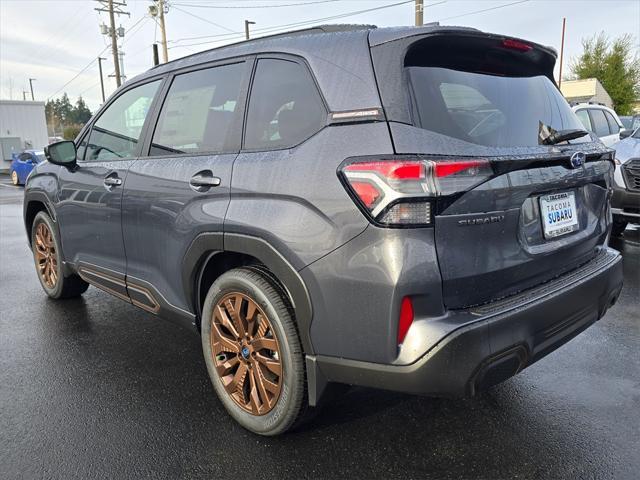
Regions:
<instances>
[{"instance_id":1,"label":"bronze alloy rim of the gray SUV's rear wheel, without tire","mask_svg":"<svg viewBox=\"0 0 640 480\"><path fill-rule=\"evenodd\" d=\"M239 292L222 297L213 310L210 342L216 372L233 401L253 415L270 412L283 372L278 339L260 306Z\"/></svg>"}]
</instances>

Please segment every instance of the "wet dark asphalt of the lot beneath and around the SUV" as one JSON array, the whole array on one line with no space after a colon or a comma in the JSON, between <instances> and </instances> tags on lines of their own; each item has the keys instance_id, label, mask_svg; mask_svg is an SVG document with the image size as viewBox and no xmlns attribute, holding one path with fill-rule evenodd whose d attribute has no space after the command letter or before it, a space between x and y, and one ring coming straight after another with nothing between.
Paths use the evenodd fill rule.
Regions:
<instances>
[{"instance_id":1,"label":"wet dark asphalt of the lot beneath and around the SUV","mask_svg":"<svg viewBox=\"0 0 640 480\"><path fill-rule=\"evenodd\" d=\"M42 292L0 177L0 478L638 478L640 230L596 325L470 400L352 389L279 438L236 425L193 332Z\"/></svg>"}]
</instances>

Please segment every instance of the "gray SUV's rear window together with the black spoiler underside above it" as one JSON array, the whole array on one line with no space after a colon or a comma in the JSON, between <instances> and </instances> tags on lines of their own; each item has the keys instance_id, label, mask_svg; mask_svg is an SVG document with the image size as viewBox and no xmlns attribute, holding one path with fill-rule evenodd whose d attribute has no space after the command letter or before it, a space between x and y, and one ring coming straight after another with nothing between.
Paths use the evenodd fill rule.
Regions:
<instances>
[{"instance_id":1,"label":"gray SUV's rear window together with the black spoiler underside above it","mask_svg":"<svg viewBox=\"0 0 640 480\"><path fill-rule=\"evenodd\" d=\"M551 80L554 63L544 49L496 36L419 40L404 59L413 123L488 147L538 146L549 132L541 124L584 130Z\"/></svg>"}]
</instances>

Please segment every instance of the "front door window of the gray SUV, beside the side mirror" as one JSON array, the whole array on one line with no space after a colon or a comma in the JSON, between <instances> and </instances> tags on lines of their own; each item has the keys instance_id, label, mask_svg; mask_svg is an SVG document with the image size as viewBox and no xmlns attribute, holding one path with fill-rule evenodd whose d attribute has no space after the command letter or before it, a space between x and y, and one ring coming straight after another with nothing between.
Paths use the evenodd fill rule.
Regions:
<instances>
[{"instance_id":1,"label":"front door window of the gray SUV, beside the side mirror","mask_svg":"<svg viewBox=\"0 0 640 480\"><path fill-rule=\"evenodd\" d=\"M134 156L142 126L160 80L128 90L102 112L93 124L85 160L112 160Z\"/></svg>"}]
</instances>

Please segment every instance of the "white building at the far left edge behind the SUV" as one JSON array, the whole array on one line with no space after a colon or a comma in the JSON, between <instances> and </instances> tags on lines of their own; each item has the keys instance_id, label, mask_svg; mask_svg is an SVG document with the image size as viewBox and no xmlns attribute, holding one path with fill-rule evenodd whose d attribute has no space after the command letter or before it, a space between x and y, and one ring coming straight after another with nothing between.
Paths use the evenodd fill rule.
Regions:
<instances>
[{"instance_id":1,"label":"white building at the far left edge behind the SUV","mask_svg":"<svg viewBox=\"0 0 640 480\"><path fill-rule=\"evenodd\" d=\"M0 170L9 167L12 153L47 144L44 102L0 100Z\"/></svg>"}]
</instances>

